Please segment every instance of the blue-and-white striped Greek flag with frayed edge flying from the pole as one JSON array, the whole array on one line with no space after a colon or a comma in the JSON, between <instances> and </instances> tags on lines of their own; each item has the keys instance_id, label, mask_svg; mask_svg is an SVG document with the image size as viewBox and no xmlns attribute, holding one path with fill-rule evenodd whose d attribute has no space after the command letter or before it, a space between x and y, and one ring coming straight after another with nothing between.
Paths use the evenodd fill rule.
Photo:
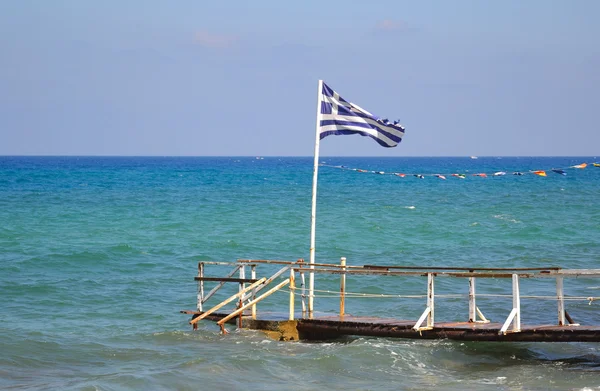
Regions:
<instances>
[{"instance_id":1,"label":"blue-and-white striped Greek flag with frayed edge flying from the pole","mask_svg":"<svg viewBox=\"0 0 600 391\"><path fill-rule=\"evenodd\" d=\"M323 83L319 94L321 121L319 138L343 134L360 134L373 138L383 147L395 147L404 136L399 121L390 122L379 118L354 103L344 100L337 92Z\"/></svg>"}]
</instances>

